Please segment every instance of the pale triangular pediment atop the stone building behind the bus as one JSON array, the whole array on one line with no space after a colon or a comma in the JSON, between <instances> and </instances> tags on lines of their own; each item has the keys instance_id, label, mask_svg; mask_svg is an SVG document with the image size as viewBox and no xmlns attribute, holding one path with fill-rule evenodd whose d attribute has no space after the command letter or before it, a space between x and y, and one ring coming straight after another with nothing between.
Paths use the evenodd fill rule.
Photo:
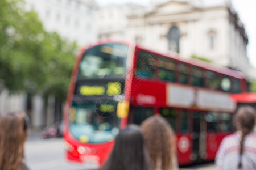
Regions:
<instances>
[{"instance_id":1,"label":"pale triangular pediment atop the stone building behind the bus","mask_svg":"<svg viewBox=\"0 0 256 170\"><path fill-rule=\"evenodd\" d=\"M179 14L193 10L196 10L196 8L192 5L189 5L187 2L171 1L156 6L153 10L148 12L147 16Z\"/></svg>"}]
</instances>

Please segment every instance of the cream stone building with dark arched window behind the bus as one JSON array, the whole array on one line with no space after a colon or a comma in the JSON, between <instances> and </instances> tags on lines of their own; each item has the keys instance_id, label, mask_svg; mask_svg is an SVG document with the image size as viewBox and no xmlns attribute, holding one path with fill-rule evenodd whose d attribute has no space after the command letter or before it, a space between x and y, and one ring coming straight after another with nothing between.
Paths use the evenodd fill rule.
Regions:
<instances>
[{"instance_id":1,"label":"cream stone building with dark arched window behind the bus","mask_svg":"<svg viewBox=\"0 0 256 170\"><path fill-rule=\"evenodd\" d=\"M122 8L105 7L100 11L107 14L108 10ZM125 26L119 35L123 39L135 40L161 52L172 50L184 58L206 58L242 71L249 78L247 34L227 0L151 0L150 6L130 11L122 17L122 22L112 24L112 30L122 23ZM103 32L105 26L98 26L100 35L115 37L111 29Z\"/></svg>"}]
</instances>

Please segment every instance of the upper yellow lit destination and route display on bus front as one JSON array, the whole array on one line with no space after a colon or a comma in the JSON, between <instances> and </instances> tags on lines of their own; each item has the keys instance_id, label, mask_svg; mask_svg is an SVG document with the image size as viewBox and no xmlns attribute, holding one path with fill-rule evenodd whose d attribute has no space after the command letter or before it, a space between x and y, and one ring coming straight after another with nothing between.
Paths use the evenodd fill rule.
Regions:
<instances>
[{"instance_id":1,"label":"upper yellow lit destination and route display on bus front","mask_svg":"<svg viewBox=\"0 0 256 170\"><path fill-rule=\"evenodd\" d=\"M122 86L120 82L108 82L105 86L88 86L82 85L79 88L80 95L82 96L115 96L120 95Z\"/></svg>"}]
</instances>

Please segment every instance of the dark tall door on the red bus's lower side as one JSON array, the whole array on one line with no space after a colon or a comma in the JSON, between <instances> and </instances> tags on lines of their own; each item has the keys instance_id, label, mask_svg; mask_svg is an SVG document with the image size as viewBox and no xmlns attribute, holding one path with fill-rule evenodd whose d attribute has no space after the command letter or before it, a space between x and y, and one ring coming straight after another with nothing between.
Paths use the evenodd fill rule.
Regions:
<instances>
[{"instance_id":1,"label":"dark tall door on the red bus's lower side","mask_svg":"<svg viewBox=\"0 0 256 170\"><path fill-rule=\"evenodd\" d=\"M200 163L206 156L206 123L204 112L193 111L193 132L192 132L192 155L191 159L195 163Z\"/></svg>"}]
</instances>

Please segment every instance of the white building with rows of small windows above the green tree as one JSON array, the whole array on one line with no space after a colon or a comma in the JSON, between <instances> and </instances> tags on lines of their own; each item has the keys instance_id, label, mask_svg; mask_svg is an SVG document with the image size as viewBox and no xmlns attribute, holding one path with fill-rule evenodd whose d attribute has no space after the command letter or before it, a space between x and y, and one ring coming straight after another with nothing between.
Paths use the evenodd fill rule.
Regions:
<instances>
[{"instance_id":1,"label":"white building with rows of small windows above the green tree","mask_svg":"<svg viewBox=\"0 0 256 170\"><path fill-rule=\"evenodd\" d=\"M48 32L85 46L97 39L94 24L98 5L94 0L25 0L26 10L35 11Z\"/></svg>"}]
</instances>

